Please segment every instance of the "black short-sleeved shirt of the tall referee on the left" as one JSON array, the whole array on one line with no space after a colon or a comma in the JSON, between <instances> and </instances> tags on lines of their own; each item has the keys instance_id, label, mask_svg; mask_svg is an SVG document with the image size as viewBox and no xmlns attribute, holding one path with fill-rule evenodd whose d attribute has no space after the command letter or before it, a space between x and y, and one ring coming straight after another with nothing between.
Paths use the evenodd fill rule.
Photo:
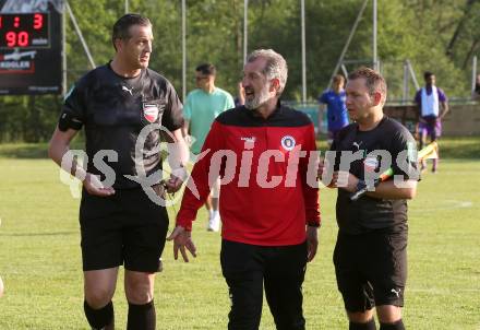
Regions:
<instances>
[{"instance_id":1,"label":"black short-sleeved shirt of the tall referee on the left","mask_svg":"<svg viewBox=\"0 0 480 330\"><path fill-rule=\"evenodd\" d=\"M173 86L149 69L143 69L135 78L122 78L108 63L75 83L67 95L59 129L80 130L84 126L87 172L104 178L104 172L94 166L94 156L101 151L112 151L117 160L105 155L100 158L116 174L113 188L129 189L139 187L137 182L124 177L137 175L135 162L147 175L161 169L160 155L156 152L160 129L149 130L145 135L135 161L139 134L151 123L161 125L168 131L182 127L182 104Z\"/></svg>"}]
</instances>

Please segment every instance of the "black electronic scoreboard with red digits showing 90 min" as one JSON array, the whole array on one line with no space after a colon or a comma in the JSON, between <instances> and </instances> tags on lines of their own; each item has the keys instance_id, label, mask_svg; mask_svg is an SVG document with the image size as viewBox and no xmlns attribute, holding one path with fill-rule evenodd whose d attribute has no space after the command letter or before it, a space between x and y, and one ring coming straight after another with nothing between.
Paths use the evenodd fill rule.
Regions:
<instances>
[{"instance_id":1,"label":"black electronic scoreboard with red digits showing 90 min","mask_svg":"<svg viewBox=\"0 0 480 330\"><path fill-rule=\"evenodd\" d=\"M0 95L60 94L61 12L48 3L43 11L20 8L28 12L0 8Z\"/></svg>"}]
</instances>

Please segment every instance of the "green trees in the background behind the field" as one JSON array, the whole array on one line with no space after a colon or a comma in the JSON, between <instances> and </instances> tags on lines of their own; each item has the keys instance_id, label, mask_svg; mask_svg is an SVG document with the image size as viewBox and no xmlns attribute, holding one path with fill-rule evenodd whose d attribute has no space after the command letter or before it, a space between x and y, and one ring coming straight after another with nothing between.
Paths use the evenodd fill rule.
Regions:
<instances>
[{"instance_id":1,"label":"green trees in the background behind the field","mask_svg":"<svg viewBox=\"0 0 480 330\"><path fill-rule=\"evenodd\" d=\"M346 59L371 66L372 2L358 25ZM124 1L70 0L97 66L113 54L111 26L124 13ZM308 98L327 86L363 0L305 0ZM182 90L181 1L130 0L130 11L148 16L154 45L149 67ZM249 50L273 48L283 54L289 78L283 98L300 101L300 0L250 0ZM67 20L68 85L91 67L70 19ZM422 72L435 72L448 96L470 94L472 57L480 49L480 0L379 0L377 55L389 85L389 98L401 95L403 62L409 59L422 84ZM194 68L212 62L217 85L237 94L243 64L243 0L187 0L187 92L195 87ZM415 89L410 87L412 98ZM45 141L55 128L62 99L1 96L0 142Z\"/></svg>"}]
</instances>

